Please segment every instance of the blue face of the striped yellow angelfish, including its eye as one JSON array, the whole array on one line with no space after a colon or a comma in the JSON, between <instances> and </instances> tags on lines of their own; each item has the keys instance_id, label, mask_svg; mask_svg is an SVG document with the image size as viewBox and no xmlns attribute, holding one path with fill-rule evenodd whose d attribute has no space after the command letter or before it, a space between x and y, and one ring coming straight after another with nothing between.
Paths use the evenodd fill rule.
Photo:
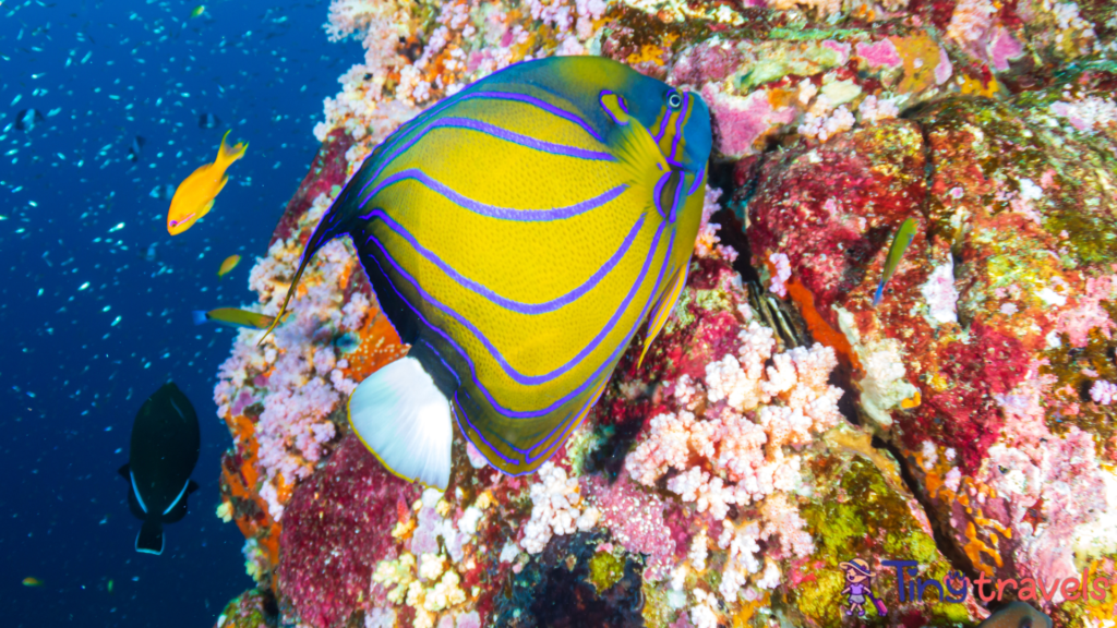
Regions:
<instances>
[{"instance_id":1,"label":"blue face of the striped yellow angelfish, including its eye","mask_svg":"<svg viewBox=\"0 0 1117 628\"><path fill-rule=\"evenodd\" d=\"M651 132L668 163L689 172L706 168L714 140L709 107L701 96L641 77L626 95L626 104Z\"/></svg>"}]
</instances>

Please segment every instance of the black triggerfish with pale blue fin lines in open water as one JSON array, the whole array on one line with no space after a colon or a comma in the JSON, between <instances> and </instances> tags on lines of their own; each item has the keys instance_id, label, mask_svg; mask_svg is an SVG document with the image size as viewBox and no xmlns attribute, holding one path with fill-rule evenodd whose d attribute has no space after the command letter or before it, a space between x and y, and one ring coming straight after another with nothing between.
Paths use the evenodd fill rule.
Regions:
<instances>
[{"instance_id":1,"label":"black triggerfish with pale blue fin lines in open water","mask_svg":"<svg viewBox=\"0 0 1117 628\"><path fill-rule=\"evenodd\" d=\"M163 524L185 516L187 497L198 489L190 474L200 450L194 407L174 382L163 384L136 413L128 463L120 469L130 485L128 508L143 521L137 552L163 553Z\"/></svg>"}]
</instances>

